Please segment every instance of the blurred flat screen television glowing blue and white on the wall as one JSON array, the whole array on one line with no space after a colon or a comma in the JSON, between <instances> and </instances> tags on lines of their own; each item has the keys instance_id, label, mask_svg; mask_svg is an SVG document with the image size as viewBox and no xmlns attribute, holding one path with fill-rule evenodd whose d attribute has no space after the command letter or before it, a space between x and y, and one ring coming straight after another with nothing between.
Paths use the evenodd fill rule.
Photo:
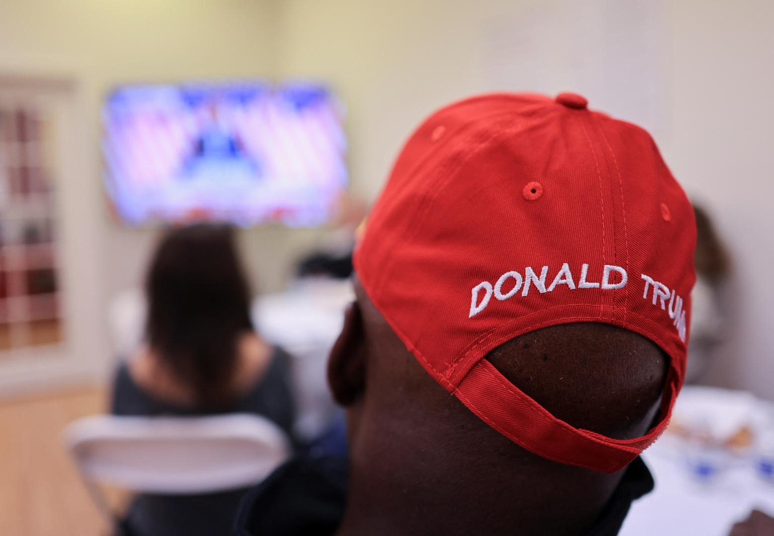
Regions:
<instances>
[{"instance_id":1,"label":"blurred flat screen television glowing blue and white on the wall","mask_svg":"<svg viewBox=\"0 0 774 536\"><path fill-rule=\"evenodd\" d=\"M131 226L319 226L347 185L341 106L320 85L125 86L102 120L104 182Z\"/></svg>"}]
</instances>

